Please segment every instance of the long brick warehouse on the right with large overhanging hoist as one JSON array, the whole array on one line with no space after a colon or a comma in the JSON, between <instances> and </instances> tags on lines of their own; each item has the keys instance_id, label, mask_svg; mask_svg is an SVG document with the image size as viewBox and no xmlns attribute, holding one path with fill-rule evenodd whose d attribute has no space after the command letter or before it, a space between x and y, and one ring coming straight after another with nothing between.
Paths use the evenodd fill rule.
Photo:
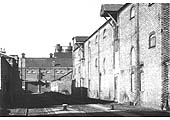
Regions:
<instances>
[{"instance_id":1,"label":"long brick warehouse on the right with large overhanging hoist","mask_svg":"<svg viewBox=\"0 0 170 120\"><path fill-rule=\"evenodd\" d=\"M168 109L169 9L169 3L102 5L106 23L84 43L89 97Z\"/></svg>"}]
</instances>

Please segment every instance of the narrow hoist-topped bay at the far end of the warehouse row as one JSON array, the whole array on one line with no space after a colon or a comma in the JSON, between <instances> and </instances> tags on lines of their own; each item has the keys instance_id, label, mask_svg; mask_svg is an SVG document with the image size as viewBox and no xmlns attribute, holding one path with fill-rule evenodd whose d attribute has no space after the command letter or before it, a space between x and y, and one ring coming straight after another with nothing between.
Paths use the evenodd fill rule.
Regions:
<instances>
[{"instance_id":1,"label":"narrow hoist-topped bay at the far end of the warehouse row","mask_svg":"<svg viewBox=\"0 0 170 120\"><path fill-rule=\"evenodd\" d=\"M73 77L72 77L72 95L81 97L87 96L87 87L85 84L85 59L84 42L87 36L73 37Z\"/></svg>"}]
</instances>

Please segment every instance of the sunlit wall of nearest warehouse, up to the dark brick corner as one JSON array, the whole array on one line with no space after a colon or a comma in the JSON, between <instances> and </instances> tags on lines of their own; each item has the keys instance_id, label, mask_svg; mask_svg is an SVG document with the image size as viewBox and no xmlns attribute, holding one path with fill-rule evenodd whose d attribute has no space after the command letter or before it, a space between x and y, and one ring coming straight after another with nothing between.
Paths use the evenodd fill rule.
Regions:
<instances>
[{"instance_id":1,"label":"sunlit wall of nearest warehouse, up to the dark brick corner","mask_svg":"<svg viewBox=\"0 0 170 120\"><path fill-rule=\"evenodd\" d=\"M138 102L142 106L160 108L161 106L161 81L167 78L162 67L164 55L168 54L167 36L162 41L162 13L161 4L148 3L139 4L139 21L137 20L137 5L130 4L119 14L119 36L120 36L120 80L119 80L119 102ZM130 9L135 6L135 17L130 19ZM139 23L137 23L139 22ZM167 25L168 23L166 23ZM139 26L139 28L138 28ZM139 36L138 36L139 29ZM149 47L149 36L154 33L156 46ZM139 38L139 47L136 41ZM163 43L162 43L163 42ZM131 49L135 50L135 65L131 65ZM139 51L137 51L139 50ZM138 53L139 52L139 53ZM137 55L139 55L137 58ZM139 59L139 64L137 60ZM133 68L132 68L133 67ZM134 87L132 91L132 70L134 71ZM139 70L139 75L137 75ZM163 86L165 83L162 83ZM165 85L166 86L166 85ZM163 87L164 88L164 87ZM139 93L137 93L139 91ZM138 96L138 100L137 97Z\"/></svg>"}]
</instances>

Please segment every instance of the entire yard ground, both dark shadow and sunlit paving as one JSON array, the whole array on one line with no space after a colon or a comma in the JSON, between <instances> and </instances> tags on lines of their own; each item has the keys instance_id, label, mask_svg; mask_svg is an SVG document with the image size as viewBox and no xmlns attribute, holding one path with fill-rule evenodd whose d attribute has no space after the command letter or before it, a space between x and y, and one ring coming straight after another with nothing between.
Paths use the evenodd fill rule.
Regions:
<instances>
[{"instance_id":1,"label":"entire yard ground, both dark shadow and sunlit paving","mask_svg":"<svg viewBox=\"0 0 170 120\"><path fill-rule=\"evenodd\" d=\"M65 110L62 106L64 103L68 104ZM114 110L111 110L111 104L114 104ZM120 105L89 98L81 99L58 93L20 96L15 106L9 110L9 116L170 116L170 113L166 111Z\"/></svg>"}]
</instances>

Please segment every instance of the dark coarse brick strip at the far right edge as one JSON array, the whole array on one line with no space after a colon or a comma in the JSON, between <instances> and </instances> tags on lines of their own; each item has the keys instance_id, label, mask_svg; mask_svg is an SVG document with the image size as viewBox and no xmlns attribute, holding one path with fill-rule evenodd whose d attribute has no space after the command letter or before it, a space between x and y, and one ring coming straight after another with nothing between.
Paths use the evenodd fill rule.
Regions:
<instances>
[{"instance_id":1,"label":"dark coarse brick strip at the far right edge","mask_svg":"<svg viewBox=\"0 0 170 120\"><path fill-rule=\"evenodd\" d=\"M161 4L161 32L162 32L162 49L161 49L161 62L162 62L162 92L161 92L161 102L162 102L162 109L168 106L168 102L170 102L169 98L169 53L170 53L170 5L169 3L162 3Z\"/></svg>"}]
</instances>

